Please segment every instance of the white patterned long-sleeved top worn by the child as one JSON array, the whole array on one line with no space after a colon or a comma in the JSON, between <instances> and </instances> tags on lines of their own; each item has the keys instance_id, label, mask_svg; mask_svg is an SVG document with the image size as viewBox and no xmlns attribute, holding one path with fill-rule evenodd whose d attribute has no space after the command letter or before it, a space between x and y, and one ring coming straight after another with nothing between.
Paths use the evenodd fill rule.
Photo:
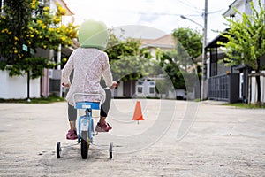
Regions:
<instances>
[{"instance_id":1,"label":"white patterned long-sleeved top worn by the child","mask_svg":"<svg viewBox=\"0 0 265 177\"><path fill-rule=\"evenodd\" d=\"M71 83L69 77L72 70L74 73ZM105 52L94 48L79 48L73 50L69 60L62 70L62 82L71 85L66 96L68 103L73 104L72 95L74 93L102 94L103 103L106 94L100 85L102 76L106 85L110 87L113 80L110 72L109 58ZM99 97L77 96L75 100L77 102L98 102Z\"/></svg>"}]
</instances>

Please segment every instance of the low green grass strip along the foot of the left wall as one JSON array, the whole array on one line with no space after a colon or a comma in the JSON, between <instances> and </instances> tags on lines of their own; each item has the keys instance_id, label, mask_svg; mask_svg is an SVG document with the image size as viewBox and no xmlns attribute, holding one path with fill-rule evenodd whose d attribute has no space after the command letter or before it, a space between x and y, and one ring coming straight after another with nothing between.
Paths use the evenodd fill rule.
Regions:
<instances>
[{"instance_id":1,"label":"low green grass strip along the foot of the left wall","mask_svg":"<svg viewBox=\"0 0 265 177\"><path fill-rule=\"evenodd\" d=\"M27 99L0 99L0 103L19 103L19 104L49 104L55 102L63 102L64 97L48 96L40 98L30 98L30 102Z\"/></svg>"}]
</instances>

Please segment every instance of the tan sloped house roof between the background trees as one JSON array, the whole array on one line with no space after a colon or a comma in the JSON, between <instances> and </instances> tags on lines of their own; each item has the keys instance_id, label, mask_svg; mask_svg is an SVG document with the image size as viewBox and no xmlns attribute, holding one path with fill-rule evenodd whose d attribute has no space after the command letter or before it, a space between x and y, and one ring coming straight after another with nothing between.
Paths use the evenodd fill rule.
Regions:
<instances>
[{"instance_id":1,"label":"tan sloped house roof between the background trees","mask_svg":"<svg viewBox=\"0 0 265 177\"><path fill-rule=\"evenodd\" d=\"M174 49L176 42L172 34L163 35L156 39L141 39L140 48L163 48L163 49Z\"/></svg>"}]
</instances>

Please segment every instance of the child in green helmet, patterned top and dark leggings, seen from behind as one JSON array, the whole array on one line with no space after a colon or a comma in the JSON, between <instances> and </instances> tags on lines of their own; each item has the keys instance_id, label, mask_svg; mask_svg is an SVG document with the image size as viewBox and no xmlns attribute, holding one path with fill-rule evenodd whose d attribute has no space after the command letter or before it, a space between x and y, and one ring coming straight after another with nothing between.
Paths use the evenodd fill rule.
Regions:
<instances>
[{"instance_id":1,"label":"child in green helmet, patterned top and dark leggings, seen from behind","mask_svg":"<svg viewBox=\"0 0 265 177\"><path fill-rule=\"evenodd\" d=\"M62 70L62 84L65 88L69 88L66 96L70 123L70 129L66 134L66 139L68 140L78 138L76 131L77 111L73 106L72 95L74 93L102 94L100 120L95 127L95 131L108 132L112 129L110 124L106 122L110 109L110 89L117 87L117 82L113 81L110 71L108 55L102 51L106 49L109 38L105 24L95 20L84 21L79 27L78 38L80 47L72 51ZM70 75L72 71L73 78L71 82ZM109 88L102 88L100 84L102 78ZM96 96L87 96L86 98L86 101L89 102L100 102Z\"/></svg>"}]
</instances>

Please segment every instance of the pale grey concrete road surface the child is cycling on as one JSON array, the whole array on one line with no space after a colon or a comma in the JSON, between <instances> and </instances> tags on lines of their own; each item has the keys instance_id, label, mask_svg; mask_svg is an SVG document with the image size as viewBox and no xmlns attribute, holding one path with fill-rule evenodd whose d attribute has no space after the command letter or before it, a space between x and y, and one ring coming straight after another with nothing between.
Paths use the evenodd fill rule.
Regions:
<instances>
[{"instance_id":1,"label":"pale grey concrete road surface the child is cycling on","mask_svg":"<svg viewBox=\"0 0 265 177\"><path fill-rule=\"evenodd\" d=\"M145 120L133 121L136 101L112 100L113 130L85 160L65 140L66 103L0 104L0 176L265 176L264 109L140 99Z\"/></svg>"}]
</instances>

